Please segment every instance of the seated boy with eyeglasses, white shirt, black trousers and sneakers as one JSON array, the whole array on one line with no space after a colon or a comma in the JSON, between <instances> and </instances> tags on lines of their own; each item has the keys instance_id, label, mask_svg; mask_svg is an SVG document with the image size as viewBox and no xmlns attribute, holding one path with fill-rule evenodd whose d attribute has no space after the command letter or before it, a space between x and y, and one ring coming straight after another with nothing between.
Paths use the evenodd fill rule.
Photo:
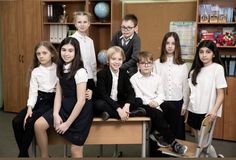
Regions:
<instances>
[{"instance_id":1,"label":"seated boy with eyeglasses, white shirt, black trousers and sneakers","mask_svg":"<svg viewBox=\"0 0 236 160\"><path fill-rule=\"evenodd\" d=\"M175 106L164 101L162 79L152 72L152 54L146 51L140 52L137 65L139 70L130 78L130 82L136 98L141 98L143 101L142 107L146 110L146 116L151 118L153 132L150 138L154 139L159 147L170 146L174 152L184 155L188 149L187 146L176 141L167 122L166 117L174 115Z\"/></svg>"}]
</instances>

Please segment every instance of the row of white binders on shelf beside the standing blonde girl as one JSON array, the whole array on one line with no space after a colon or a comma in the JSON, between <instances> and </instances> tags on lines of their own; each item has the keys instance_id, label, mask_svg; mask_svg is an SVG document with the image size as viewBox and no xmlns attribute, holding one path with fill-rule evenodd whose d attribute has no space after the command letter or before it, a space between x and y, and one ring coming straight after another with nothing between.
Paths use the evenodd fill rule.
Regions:
<instances>
[{"instance_id":1,"label":"row of white binders on shelf beside the standing blonde girl","mask_svg":"<svg viewBox=\"0 0 236 160\"><path fill-rule=\"evenodd\" d=\"M67 25L50 25L50 42L61 43L61 41L67 37L68 26Z\"/></svg>"}]
</instances>

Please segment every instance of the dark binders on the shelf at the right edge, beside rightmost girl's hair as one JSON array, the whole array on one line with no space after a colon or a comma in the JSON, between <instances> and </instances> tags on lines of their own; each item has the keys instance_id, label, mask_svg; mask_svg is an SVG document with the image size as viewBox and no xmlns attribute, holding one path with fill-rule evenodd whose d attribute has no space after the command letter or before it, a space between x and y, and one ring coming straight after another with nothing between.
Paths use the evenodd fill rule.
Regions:
<instances>
[{"instance_id":1,"label":"dark binders on the shelf at the right edge, beside rightmost girl's hair","mask_svg":"<svg viewBox=\"0 0 236 160\"><path fill-rule=\"evenodd\" d=\"M226 76L236 76L236 55L221 55Z\"/></svg>"}]
</instances>

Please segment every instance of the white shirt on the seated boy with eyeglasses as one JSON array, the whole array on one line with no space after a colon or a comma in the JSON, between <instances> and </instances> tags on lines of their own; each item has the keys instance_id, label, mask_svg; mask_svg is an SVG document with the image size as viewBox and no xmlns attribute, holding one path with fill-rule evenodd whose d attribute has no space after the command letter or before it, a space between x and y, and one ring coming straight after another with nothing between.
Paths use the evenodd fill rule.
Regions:
<instances>
[{"instance_id":1,"label":"white shirt on the seated boy with eyeglasses","mask_svg":"<svg viewBox=\"0 0 236 160\"><path fill-rule=\"evenodd\" d=\"M150 76L145 77L138 71L130 78L130 82L136 97L141 98L143 104L148 105L152 100L156 101L158 105L164 102L165 96L162 80L157 74L151 73Z\"/></svg>"}]
</instances>

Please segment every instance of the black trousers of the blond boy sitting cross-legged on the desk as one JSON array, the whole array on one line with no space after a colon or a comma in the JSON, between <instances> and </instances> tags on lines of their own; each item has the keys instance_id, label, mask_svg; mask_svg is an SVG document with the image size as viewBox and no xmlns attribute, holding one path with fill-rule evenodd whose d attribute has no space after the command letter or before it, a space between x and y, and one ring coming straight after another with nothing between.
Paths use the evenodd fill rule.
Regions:
<instances>
[{"instance_id":1,"label":"black trousers of the blond boy sitting cross-legged on the desk","mask_svg":"<svg viewBox=\"0 0 236 160\"><path fill-rule=\"evenodd\" d=\"M120 106L124 106L124 102L117 102ZM135 102L130 104L130 111L137 109L142 106L142 100L140 98L135 98ZM110 117L120 119L118 112L110 106L105 100L97 99L94 103L95 116L101 115L102 112L107 112Z\"/></svg>"}]
</instances>

